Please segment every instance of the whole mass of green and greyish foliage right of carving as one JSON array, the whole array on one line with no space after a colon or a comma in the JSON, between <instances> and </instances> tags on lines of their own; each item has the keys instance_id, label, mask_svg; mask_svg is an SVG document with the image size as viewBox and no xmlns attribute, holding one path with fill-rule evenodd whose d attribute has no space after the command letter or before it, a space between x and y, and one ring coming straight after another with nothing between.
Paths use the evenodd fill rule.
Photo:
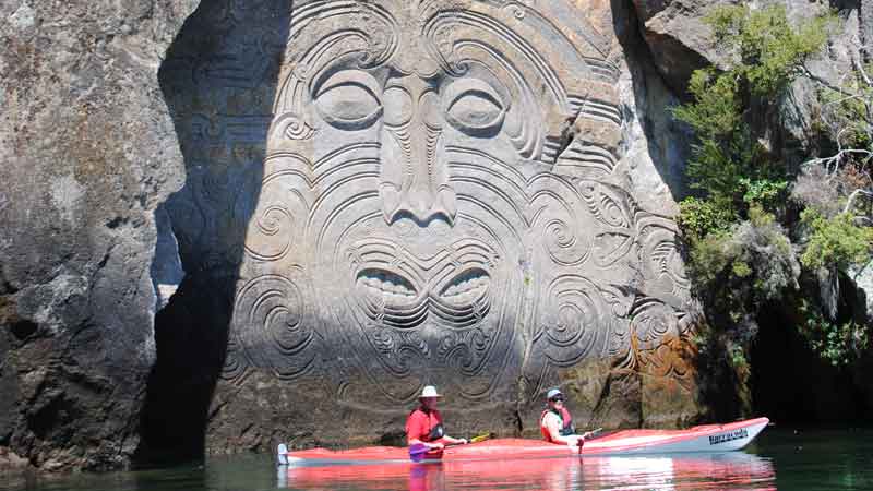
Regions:
<instances>
[{"instance_id":1,"label":"whole mass of green and greyish foliage right of carving","mask_svg":"<svg viewBox=\"0 0 873 491\"><path fill-rule=\"evenodd\" d=\"M862 65L842 86L808 68L835 15L796 25L778 5L730 5L706 21L733 62L694 72L691 101L673 110L696 137L686 176L697 195L680 204L679 224L713 335L721 339L726 362L742 367L741 347L758 328L755 316L765 304L802 296L802 270L845 274L871 260L873 84ZM769 127L776 123L768 117L798 77L818 83L824 109L817 127L837 147L834 155L809 156L800 172L773 148ZM800 219L798 206L805 208ZM845 364L857 359L848 354L869 346L863 321L838 322L815 302L801 304L798 328L823 359Z\"/></svg>"}]
</instances>

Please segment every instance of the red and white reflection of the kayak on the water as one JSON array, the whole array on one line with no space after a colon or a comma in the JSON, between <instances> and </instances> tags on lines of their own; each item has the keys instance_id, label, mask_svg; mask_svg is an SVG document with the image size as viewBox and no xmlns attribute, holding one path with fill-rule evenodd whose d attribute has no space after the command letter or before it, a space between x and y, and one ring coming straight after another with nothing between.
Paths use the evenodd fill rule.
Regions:
<instances>
[{"instance_id":1,"label":"red and white reflection of the kayak on the water","mask_svg":"<svg viewBox=\"0 0 873 491\"><path fill-rule=\"evenodd\" d=\"M295 490L776 489L768 458L734 452L654 457L585 457L291 467L278 486Z\"/></svg>"}]
</instances>

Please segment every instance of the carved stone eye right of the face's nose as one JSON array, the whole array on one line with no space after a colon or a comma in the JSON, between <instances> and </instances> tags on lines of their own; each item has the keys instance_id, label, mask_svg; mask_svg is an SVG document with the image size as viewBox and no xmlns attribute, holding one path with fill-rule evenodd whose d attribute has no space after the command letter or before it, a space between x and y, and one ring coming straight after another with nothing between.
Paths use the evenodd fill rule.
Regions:
<instances>
[{"instance_id":1,"label":"carved stone eye right of the face's nose","mask_svg":"<svg viewBox=\"0 0 873 491\"><path fill-rule=\"evenodd\" d=\"M446 89L444 100L446 121L470 136L493 136L506 115L497 91L476 79L452 84Z\"/></svg>"}]
</instances>

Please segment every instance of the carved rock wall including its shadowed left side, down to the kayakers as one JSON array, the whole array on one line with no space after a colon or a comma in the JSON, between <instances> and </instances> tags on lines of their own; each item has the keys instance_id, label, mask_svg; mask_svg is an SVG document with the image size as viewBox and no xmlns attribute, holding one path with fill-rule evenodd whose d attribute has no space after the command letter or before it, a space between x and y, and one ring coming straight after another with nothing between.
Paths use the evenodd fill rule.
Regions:
<instances>
[{"instance_id":1,"label":"carved rock wall including its shadowed left side, down to the kayakers","mask_svg":"<svg viewBox=\"0 0 873 491\"><path fill-rule=\"evenodd\" d=\"M424 384L453 431L536 428L561 383L638 424L612 361L658 363L690 297L613 29L599 1L204 4L160 72L188 177L158 352L210 343L158 360L151 427L204 381L215 452L379 441Z\"/></svg>"}]
</instances>

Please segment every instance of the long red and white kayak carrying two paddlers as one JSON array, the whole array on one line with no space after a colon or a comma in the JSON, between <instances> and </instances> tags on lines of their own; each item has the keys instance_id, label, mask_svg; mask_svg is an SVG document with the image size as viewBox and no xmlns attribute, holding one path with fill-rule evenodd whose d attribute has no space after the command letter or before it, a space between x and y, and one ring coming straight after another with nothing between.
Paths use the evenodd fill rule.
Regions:
<instances>
[{"instance_id":1,"label":"long red and white kayak carrying two paddlers","mask_svg":"<svg viewBox=\"0 0 873 491\"><path fill-rule=\"evenodd\" d=\"M757 418L727 424L705 424L687 430L623 430L586 441L582 447L557 445L538 440L497 439L469 445L449 446L443 452L442 460L727 452L748 445L768 422L767 418ZM410 462L409 450L396 446L368 446L346 451L313 448L287 453L284 447L285 445L279 445L280 465Z\"/></svg>"}]
</instances>

